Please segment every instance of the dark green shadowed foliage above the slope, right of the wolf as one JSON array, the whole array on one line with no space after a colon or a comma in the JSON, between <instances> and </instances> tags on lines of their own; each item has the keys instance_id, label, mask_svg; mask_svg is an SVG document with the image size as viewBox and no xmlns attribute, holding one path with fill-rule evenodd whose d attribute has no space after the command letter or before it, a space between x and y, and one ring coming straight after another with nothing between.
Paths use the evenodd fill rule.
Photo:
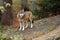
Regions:
<instances>
[{"instance_id":1,"label":"dark green shadowed foliage above the slope, right of the wolf","mask_svg":"<svg viewBox=\"0 0 60 40\"><path fill-rule=\"evenodd\" d=\"M32 10L34 15L38 18L48 17L49 13L52 15L60 14L60 0L42 0L39 3L36 3L40 7L40 10ZM42 17L42 18L43 18Z\"/></svg>"}]
</instances>

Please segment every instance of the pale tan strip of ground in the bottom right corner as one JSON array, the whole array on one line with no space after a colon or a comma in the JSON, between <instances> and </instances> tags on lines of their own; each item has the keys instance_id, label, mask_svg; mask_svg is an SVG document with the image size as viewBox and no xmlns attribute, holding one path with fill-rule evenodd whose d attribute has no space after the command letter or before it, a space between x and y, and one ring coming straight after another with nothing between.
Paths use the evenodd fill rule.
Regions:
<instances>
[{"instance_id":1,"label":"pale tan strip of ground in the bottom right corner","mask_svg":"<svg viewBox=\"0 0 60 40\"><path fill-rule=\"evenodd\" d=\"M33 40L60 40L60 25L55 30Z\"/></svg>"}]
</instances>

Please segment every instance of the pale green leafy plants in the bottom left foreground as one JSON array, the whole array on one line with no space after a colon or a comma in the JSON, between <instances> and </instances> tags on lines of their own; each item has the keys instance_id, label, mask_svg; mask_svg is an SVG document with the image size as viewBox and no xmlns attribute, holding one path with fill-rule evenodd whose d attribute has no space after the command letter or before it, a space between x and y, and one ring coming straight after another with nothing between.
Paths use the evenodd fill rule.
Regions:
<instances>
[{"instance_id":1,"label":"pale green leafy plants in the bottom left foreground","mask_svg":"<svg viewBox=\"0 0 60 40\"><path fill-rule=\"evenodd\" d=\"M21 35L8 36L7 34L0 34L0 40L23 40Z\"/></svg>"}]
</instances>

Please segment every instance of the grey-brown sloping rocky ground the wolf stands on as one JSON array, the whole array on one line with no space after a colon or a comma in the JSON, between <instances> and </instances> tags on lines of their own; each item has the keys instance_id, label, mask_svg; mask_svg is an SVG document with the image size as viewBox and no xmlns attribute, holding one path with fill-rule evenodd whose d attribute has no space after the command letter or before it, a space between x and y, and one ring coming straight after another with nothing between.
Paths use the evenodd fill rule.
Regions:
<instances>
[{"instance_id":1,"label":"grey-brown sloping rocky ground the wolf stands on","mask_svg":"<svg viewBox=\"0 0 60 40\"><path fill-rule=\"evenodd\" d=\"M27 40L32 40L52 30L55 30L59 25L60 15L35 21L32 29L28 27L25 29L25 31L16 31L16 28L9 28L2 33L12 37L14 35L21 35L23 39L25 38Z\"/></svg>"}]
</instances>

